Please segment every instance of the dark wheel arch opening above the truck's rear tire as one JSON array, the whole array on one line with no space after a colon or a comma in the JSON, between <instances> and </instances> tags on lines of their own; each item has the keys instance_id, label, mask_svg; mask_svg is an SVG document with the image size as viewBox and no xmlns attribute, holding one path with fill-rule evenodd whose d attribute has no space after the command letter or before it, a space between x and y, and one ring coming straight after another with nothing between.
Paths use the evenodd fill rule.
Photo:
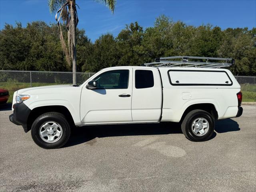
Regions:
<instances>
[{"instance_id":1,"label":"dark wheel arch opening above the truck's rear tire","mask_svg":"<svg viewBox=\"0 0 256 192\"><path fill-rule=\"evenodd\" d=\"M185 118L185 116L192 110L204 110L208 113L210 113L214 120L218 120L218 111L216 110L216 106L212 103L198 103L198 104L192 104L186 108L186 110L183 112L182 117L180 119L180 122L182 122Z\"/></svg>"}]
</instances>

